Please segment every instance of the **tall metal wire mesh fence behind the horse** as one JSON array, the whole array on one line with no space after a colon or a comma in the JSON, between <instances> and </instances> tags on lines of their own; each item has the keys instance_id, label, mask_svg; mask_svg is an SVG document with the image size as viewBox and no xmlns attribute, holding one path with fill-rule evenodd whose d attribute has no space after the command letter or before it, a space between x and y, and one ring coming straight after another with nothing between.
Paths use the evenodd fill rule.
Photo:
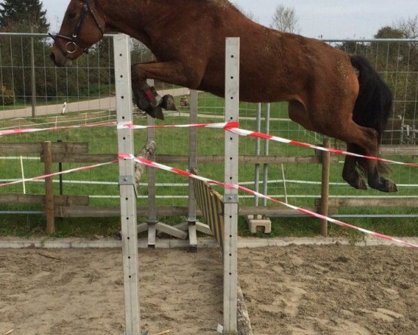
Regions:
<instances>
[{"instance_id":1,"label":"tall metal wire mesh fence behind the horse","mask_svg":"<svg viewBox=\"0 0 418 335\"><path fill-rule=\"evenodd\" d=\"M325 40L333 47L348 53L363 54L389 84L394 95L393 114L390 117L383 144L396 146L417 145L418 109L418 42L417 40ZM88 55L79 57L68 68L56 68L49 60L52 40L43 34L0 34L0 128L47 128L63 125L94 124L115 121L114 99L114 56L111 36L91 49ZM150 54L141 43L132 40L132 63L152 61ZM255 69L256 70L256 69ZM156 82L155 87L164 94L171 94L178 105L178 112L166 114L164 124L189 123L189 91L170 84ZM240 127L257 130L257 109L254 103L240 104ZM266 117L266 114L270 114ZM219 122L224 118L223 98L199 92L199 122ZM135 110L135 123L146 124L141 111ZM163 124L157 121L157 124ZM287 103L272 103L261 106L259 127L262 132L292 140L322 144L323 137L288 119ZM217 156L224 154L224 133L219 130L199 130L198 154ZM157 154L186 156L189 150L187 129L159 129L156 131ZM116 129L80 128L47 133L3 136L0 142L86 142L91 154L116 154ZM141 149L146 142L146 132L135 134L135 147ZM343 144L333 141L335 147ZM261 140L258 146L261 156L314 156L314 151L284 144L266 144ZM255 155L256 140L242 138L240 155ZM401 159L416 160L413 156ZM2 180L32 177L43 173L39 156L34 154L1 154L0 169ZM297 159L295 160L297 161ZM377 191L356 191L341 178L343 157L332 164L330 195L333 197L385 197ZM64 170L83 165L62 162ZM187 169L184 163L173 163L176 168ZM54 169L59 170L59 163ZM268 169L267 169L268 168ZM222 163L199 165L201 175L210 179L223 179ZM316 163L242 163L240 182L254 187L255 174L260 182L259 189L274 197L296 205L312 206L314 198L320 195L321 165ZM117 166L100 170L68 174L63 177L60 189L59 178L54 180L54 192L67 195L88 195L93 206L117 206ZM418 198L418 178L413 168L392 167L391 179L400 184L400 190L392 197ZM187 180L178 176L157 172L157 204L186 206L188 198ZM0 188L0 193L42 194L42 183ZM139 187L139 201L146 203L146 178ZM141 200L142 199L142 200ZM250 195L242 195L242 204L254 204ZM261 202L260 202L261 204ZM0 204L0 210L29 211L32 207L17 207ZM362 214L373 213L373 209L362 209Z\"/></svg>"}]
</instances>

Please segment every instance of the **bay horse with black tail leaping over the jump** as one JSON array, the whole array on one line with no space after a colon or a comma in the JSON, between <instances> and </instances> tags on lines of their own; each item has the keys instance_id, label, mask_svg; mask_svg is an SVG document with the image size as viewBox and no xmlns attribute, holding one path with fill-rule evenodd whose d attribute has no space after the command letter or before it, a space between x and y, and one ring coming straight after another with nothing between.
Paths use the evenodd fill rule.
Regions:
<instances>
[{"instance_id":1,"label":"bay horse with black tail leaping over the jump","mask_svg":"<svg viewBox=\"0 0 418 335\"><path fill-rule=\"evenodd\" d=\"M240 37L240 100L288 101L289 117L347 143L348 151L377 156L392 108L392 93L366 59L320 40L287 34L249 20L227 0L71 0L51 59L69 66L103 34L140 40L156 61L132 66L137 105L163 119L173 107L146 80L224 96L226 37ZM397 191L374 160L346 156L343 179L366 189Z\"/></svg>"}]
</instances>

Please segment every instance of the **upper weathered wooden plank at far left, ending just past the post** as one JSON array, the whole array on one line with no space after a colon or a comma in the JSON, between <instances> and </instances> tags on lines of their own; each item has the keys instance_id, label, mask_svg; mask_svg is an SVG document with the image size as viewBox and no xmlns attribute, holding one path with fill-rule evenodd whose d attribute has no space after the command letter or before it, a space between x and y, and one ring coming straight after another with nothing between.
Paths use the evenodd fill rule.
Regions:
<instances>
[{"instance_id":1,"label":"upper weathered wooden plank at far left, ending just past the post","mask_svg":"<svg viewBox=\"0 0 418 335\"><path fill-rule=\"evenodd\" d=\"M57 153L87 153L88 142L52 142L52 152ZM0 143L0 154L42 154L42 142Z\"/></svg>"}]
</instances>

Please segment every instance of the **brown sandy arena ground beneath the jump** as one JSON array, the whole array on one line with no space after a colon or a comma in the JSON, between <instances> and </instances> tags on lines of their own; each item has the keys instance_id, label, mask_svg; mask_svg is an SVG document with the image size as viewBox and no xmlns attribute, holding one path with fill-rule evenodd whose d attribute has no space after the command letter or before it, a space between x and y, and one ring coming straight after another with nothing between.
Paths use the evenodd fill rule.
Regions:
<instances>
[{"instance_id":1,"label":"brown sandy arena ground beneath the jump","mask_svg":"<svg viewBox=\"0 0 418 335\"><path fill-rule=\"evenodd\" d=\"M143 329L217 334L219 249L140 253ZM254 334L418 334L417 255L338 244L240 249ZM123 334L121 249L0 249L0 288L0 335Z\"/></svg>"}]
</instances>

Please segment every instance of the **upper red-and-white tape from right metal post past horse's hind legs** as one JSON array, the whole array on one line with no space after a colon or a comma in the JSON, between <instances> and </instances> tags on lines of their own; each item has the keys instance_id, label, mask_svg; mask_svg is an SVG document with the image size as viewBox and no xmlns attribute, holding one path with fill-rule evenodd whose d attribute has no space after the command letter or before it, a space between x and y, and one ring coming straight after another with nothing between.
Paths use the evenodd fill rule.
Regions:
<instances>
[{"instance_id":1,"label":"upper red-and-white tape from right metal post past horse's hind legs","mask_svg":"<svg viewBox=\"0 0 418 335\"><path fill-rule=\"evenodd\" d=\"M416 163L404 163L404 162L399 162L399 161L392 161L392 160L386 159L386 158L365 156L365 155L355 154L355 153L349 152L349 151L343 151L343 150L333 149L333 148L325 148L325 147L320 147L320 146L315 145L315 144L309 144L309 143L304 143L304 142L288 140L288 139L283 138L283 137L268 135L268 134L265 134L265 133L258 133L256 131L246 131L245 129L233 128L233 127L228 127L228 126L225 128L225 130L230 131L231 133L234 133L234 134L241 135L241 136L259 137L259 138L263 138L264 140L271 140L271 141L275 141L275 142L298 145L300 147L307 147L307 148L311 148L311 149L328 151L328 152L332 152L333 154L354 156L354 157L359 157L359 158L371 159L373 161L381 161L381 162L384 162L384 163L393 163L393 164L398 164L398 165L407 165L407 166L411 166L412 168L418 168L418 164L416 164Z\"/></svg>"}]
</instances>

